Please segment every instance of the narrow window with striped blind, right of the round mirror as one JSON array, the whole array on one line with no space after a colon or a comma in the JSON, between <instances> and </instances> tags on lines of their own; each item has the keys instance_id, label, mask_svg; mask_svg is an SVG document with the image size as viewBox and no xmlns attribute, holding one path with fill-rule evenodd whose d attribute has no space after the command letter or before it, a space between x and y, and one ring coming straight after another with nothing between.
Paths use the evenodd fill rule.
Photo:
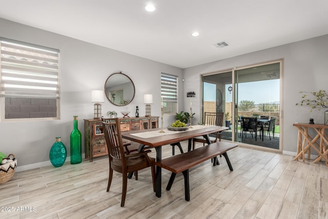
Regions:
<instances>
[{"instance_id":1,"label":"narrow window with striped blind, right of the round mirror","mask_svg":"<svg viewBox=\"0 0 328 219\"><path fill-rule=\"evenodd\" d=\"M176 113L178 103L178 76L167 73L161 73L160 76L163 113Z\"/></svg>"}]
</instances>

